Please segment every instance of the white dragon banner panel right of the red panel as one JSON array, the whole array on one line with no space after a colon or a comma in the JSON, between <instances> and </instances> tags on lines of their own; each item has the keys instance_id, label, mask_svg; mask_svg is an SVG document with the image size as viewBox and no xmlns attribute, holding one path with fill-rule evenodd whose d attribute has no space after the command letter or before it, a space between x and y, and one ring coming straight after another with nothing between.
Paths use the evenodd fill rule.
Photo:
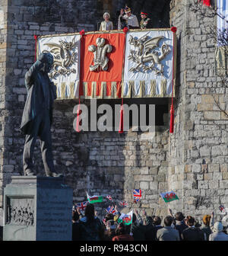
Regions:
<instances>
[{"instance_id":1,"label":"white dragon banner panel right of the red panel","mask_svg":"<svg viewBox=\"0 0 228 256\"><path fill-rule=\"evenodd\" d=\"M122 97L172 96L173 44L170 30L138 30L127 34Z\"/></svg>"}]
</instances>

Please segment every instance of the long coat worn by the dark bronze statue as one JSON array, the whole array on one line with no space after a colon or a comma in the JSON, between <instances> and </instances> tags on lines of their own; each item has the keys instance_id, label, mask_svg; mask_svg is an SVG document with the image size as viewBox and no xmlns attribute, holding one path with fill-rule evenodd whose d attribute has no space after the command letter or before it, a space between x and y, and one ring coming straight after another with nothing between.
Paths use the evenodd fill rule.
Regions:
<instances>
[{"instance_id":1,"label":"long coat worn by the dark bronze statue","mask_svg":"<svg viewBox=\"0 0 228 256\"><path fill-rule=\"evenodd\" d=\"M49 90L50 108L49 117L52 123L52 104L56 98L56 86L50 81L46 73L40 71L43 63L37 60L25 74L25 87L27 88L27 100L21 120L21 131L30 134L30 124L41 113L45 106L46 95ZM39 136L39 134L38 134Z\"/></svg>"}]
</instances>

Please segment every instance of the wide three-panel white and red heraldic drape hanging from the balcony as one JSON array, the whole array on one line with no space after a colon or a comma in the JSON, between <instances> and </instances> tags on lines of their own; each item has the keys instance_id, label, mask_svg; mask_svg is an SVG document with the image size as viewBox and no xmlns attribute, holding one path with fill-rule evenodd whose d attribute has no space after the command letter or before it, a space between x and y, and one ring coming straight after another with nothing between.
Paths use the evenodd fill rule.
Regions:
<instances>
[{"instance_id":1,"label":"wide three-panel white and red heraldic drape hanging from the balcony","mask_svg":"<svg viewBox=\"0 0 228 256\"><path fill-rule=\"evenodd\" d=\"M57 99L175 96L176 34L170 29L91 31L38 37L51 53Z\"/></svg>"}]
</instances>

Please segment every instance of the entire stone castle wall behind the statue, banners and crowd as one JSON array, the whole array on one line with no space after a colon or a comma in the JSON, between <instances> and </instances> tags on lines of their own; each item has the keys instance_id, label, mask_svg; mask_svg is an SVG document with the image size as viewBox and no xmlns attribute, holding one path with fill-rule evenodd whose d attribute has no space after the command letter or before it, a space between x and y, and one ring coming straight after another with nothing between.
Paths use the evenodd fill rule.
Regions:
<instances>
[{"instance_id":1,"label":"entire stone castle wall behind the statue, banners and crowd","mask_svg":"<svg viewBox=\"0 0 228 256\"><path fill-rule=\"evenodd\" d=\"M215 44L207 37L207 26L214 24L215 18L202 18L199 12L192 11L189 2L194 1L160 1L159 5L154 0L126 2L137 15L145 8L151 17L157 17L153 27L177 27L173 135L169 134L170 102L166 99L138 100L157 104L157 112L162 113L156 136L148 140L143 139L145 134L131 130L122 135L75 133L73 108L78 101L55 102L52 126L55 166L73 187L75 202L86 199L85 190L130 201L132 190L141 188L141 202L130 206L145 209L149 214L167 214L160 192L171 189L180 200L170 203L170 207L185 215L201 216L217 211L221 203L228 203L228 118L212 97L227 111L227 88L221 86L220 78L215 75ZM27 95L24 74L34 61L33 36L71 33L83 28L97 30L103 11L109 11L116 24L119 8L124 5L121 0L49 0L45 5L41 0L0 0L1 194L12 175L23 173L24 136L19 126ZM130 104L134 101L131 99ZM118 100L112 103L120 104ZM38 144L35 155L36 171L43 173Z\"/></svg>"}]
</instances>

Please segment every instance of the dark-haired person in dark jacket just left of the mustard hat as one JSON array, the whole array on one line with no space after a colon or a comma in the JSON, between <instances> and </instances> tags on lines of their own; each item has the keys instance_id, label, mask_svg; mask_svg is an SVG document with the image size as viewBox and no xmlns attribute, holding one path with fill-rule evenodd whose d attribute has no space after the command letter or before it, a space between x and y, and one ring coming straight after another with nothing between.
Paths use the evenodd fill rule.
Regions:
<instances>
[{"instance_id":1,"label":"dark-haired person in dark jacket just left of the mustard hat","mask_svg":"<svg viewBox=\"0 0 228 256\"><path fill-rule=\"evenodd\" d=\"M182 232L182 240L184 241L205 241L206 235L204 232L195 227L195 218L192 216L186 217L186 224L188 225L188 229L183 230Z\"/></svg>"}]
</instances>

